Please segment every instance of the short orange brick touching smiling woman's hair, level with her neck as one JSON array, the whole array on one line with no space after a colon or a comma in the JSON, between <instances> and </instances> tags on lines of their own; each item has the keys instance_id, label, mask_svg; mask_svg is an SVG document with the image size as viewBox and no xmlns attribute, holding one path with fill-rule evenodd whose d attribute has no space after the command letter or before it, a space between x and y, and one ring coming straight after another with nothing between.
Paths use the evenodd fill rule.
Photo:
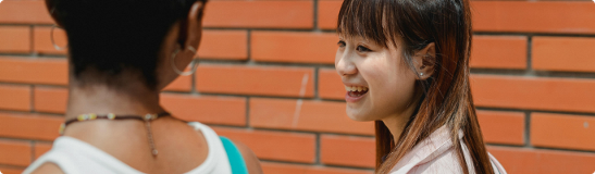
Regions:
<instances>
[{"instance_id":1,"label":"short orange brick touching smiling woman's hair, level with her neck","mask_svg":"<svg viewBox=\"0 0 595 174\"><path fill-rule=\"evenodd\" d=\"M478 111L478 120L485 142L524 145L524 113Z\"/></svg>"}]
</instances>

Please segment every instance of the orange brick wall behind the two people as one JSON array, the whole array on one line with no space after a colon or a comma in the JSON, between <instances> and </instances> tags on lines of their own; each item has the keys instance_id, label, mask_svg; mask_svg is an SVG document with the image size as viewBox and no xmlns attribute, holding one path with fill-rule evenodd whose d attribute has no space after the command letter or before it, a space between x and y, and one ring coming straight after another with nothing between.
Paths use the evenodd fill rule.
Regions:
<instances>
[{"instance_id":1,"label":"orange brick wall behind the two people","mask_svg":"<svg viewBox=\"0 0 595 174\"><path fill-rule=\"evenodd\" d=\"M334 71L340 0L212 0L195 76L162 102L241 140L265 173L369 174L372 123L345 115ZM595 172L595 2L473 1L472 90L488 150L511 174ZM0 172L51 148L65 51L42 0L0 1ZM55 33L64 46L64 34Z\"/></svg>"}]
</instances>

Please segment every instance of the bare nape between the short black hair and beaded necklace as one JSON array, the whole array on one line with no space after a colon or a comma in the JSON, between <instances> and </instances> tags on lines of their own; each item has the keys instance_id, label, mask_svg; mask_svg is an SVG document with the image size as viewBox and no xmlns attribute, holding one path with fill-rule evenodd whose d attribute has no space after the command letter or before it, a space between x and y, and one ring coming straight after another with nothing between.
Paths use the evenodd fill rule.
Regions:
<instances>
[{"instance_id":1,"label":"bare nape between the short black hair and beaded necklace","mask_svg":"<svg viewBox=\"0 0 595 174\"><path fill-rule=\"evenodd\" d=\"M71 84L66 120L85 113L145 115L165 111L159 104L159 91L149 90L141 83L129 83L119 89L106 85Z\"/></svg>"}]
</instances>

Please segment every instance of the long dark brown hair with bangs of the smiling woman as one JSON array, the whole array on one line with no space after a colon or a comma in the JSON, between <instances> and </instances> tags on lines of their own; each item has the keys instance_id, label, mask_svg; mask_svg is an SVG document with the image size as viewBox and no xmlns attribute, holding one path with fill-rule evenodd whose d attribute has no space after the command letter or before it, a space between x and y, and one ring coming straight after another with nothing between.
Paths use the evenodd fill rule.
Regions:
<instances>
[{"instance_id":1,"label":"long dark brown hair with bangs of the smiling woman","mask_svg":"<svg viewBox=\"0 0 595 174\"><path fill-rule=\"evenodd\" d=\"M418 82L417 90L423 95L402 134L393 137L382 121L375 121L376 173L388 173L414 146L445 125L466 174L470 169L460 141L469 149L468 160L475 173L494 173L469 86L472 29L468 0L345 0L337 33L361 36L385 48L402 40L398 47L404 47L405 61L412 71L412 54L435 44L434 73ZM464 134L462 139L459 130Z\"/></svg>"}]
</instances>

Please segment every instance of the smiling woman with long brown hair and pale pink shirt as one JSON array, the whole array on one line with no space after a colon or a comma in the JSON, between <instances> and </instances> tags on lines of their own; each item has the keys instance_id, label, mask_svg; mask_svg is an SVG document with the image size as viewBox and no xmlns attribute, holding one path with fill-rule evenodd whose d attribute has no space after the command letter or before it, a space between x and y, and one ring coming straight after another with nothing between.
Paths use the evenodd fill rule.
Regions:
<instances>
[{"instance_id":1,"label":"smiling woman with long brown hair and pale pink shirt","mask_svg":"<svg viewBox=\"0 0 595 174\"><path fill-rule=\"evenodd\" d=\"M345 0L337 33L347 114L375 121L376 173L506 173L470 92L467 0Z\"/></svg>"}]
</instances>

